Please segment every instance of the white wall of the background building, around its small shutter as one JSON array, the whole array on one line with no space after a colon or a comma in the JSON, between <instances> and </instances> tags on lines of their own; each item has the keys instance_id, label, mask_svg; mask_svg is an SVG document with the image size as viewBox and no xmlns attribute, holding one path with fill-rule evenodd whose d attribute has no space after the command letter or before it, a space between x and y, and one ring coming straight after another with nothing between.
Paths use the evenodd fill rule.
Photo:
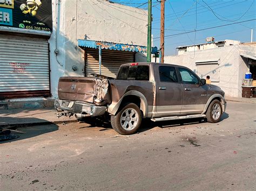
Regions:
<instances>
[{"instance_id":1,"label":"white wall of the background building, around its small shutter","mask_svg":"<svg viewBox=\"0 0 256 191\"><path fill-rule=\"evenodd\" d=\"M220 82L212 82L212 84L223 89L226 96L241 97L241 84L248 67L247 60L242 59L240 53L245 50L253 52L255 47L234 45L186 52L183 55L165 56L165 63L186 66L197 73L198 60L219 59Z\"/></svg>"}]
</instances>

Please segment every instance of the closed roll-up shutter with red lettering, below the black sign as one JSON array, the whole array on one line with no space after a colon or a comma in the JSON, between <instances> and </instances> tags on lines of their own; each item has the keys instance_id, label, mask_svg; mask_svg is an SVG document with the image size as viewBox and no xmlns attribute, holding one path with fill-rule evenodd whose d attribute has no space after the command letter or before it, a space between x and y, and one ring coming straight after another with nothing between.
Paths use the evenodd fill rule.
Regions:
<instances>
[{"instance_id":1,"label":"closed roll-up shutter with red lettering, below the black sign","mask_svg":"<svg viewBox=\"0 0 256 191\"><path fill-rule=\"evenodd\" d=\"M0 97L50 96L48 39L0 34Z\"/></svg>"}]
</instances>

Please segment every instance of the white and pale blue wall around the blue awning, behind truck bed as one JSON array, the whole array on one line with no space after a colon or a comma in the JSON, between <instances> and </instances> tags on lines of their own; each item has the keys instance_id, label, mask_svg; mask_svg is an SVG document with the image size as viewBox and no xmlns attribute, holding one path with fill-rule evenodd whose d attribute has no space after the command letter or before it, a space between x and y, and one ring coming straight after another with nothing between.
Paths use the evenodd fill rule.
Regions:
<instances>
[{"instance_id":1,"label":"white and pale blue wall around the blue awning, behind truck bed","mask_svg":"<svg viewBox=\"0 0 256 191\"><path fill-rule=\"evenodd\" d=\"M56 10L60 6L57 30L59 54L56 57ZM84 76L84 51L78 39L147 45L147 11L108 1L53 0L53 32L50 42L51 92L57 98L60 76ZM145 55L145 54L144 54ZM146 61L137 53L136 61ZM63 66L60 66L63 65ZM77 66L74 71L72 66Z\"/></svg>"}]
</instances>

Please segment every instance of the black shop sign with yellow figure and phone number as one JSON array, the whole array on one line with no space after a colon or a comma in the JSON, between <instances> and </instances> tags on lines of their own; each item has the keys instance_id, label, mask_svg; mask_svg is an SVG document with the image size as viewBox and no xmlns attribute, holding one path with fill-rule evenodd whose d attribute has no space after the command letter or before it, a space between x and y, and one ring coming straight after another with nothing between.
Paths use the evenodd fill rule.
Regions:
<instances>
[{"instance_id":1,"label":"black shop sign with yellow figure and phone number","mask_svg":"<svg viewBox=\"0 0 256 191\"><path fill-rule=\"evenodd\" d=\"M52 31L51 1L0 0L0 26Z\"/></svg>"}]
</instances>

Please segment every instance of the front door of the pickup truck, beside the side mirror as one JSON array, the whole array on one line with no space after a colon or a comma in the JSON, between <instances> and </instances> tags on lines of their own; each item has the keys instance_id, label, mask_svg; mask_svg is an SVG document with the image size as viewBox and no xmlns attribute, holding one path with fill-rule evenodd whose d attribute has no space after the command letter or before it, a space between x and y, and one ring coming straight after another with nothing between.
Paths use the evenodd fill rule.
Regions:
<instances>
[{"instance_id":1,"label":"front door of the pickup truck, beside the side mirror","mask_svg":"<svg viewBox=\"0 0 256 191\"><path fill-rule=\"evenodd\" d=\"M181 112L183 115L201 114L207 101L207 86L201 86L200 79L190 69L179 67L178 70L184 91Z\"/></svg>"}]
</instances>

